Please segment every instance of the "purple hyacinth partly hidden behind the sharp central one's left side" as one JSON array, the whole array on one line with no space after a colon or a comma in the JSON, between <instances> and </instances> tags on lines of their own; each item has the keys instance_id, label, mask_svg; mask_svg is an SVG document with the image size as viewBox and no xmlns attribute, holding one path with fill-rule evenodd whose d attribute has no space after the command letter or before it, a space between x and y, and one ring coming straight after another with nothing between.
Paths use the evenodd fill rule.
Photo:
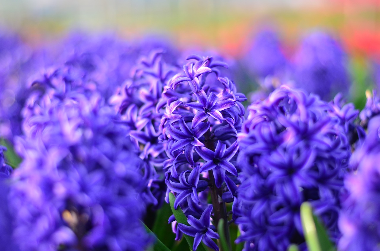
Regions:
<instances>
[{"instance_id":1,"label":"purple hyacinth partly hidden behind the sharp central one's left side","mask_svg":"<svg viewBox=\"0 0 380 251\"><path fill-rule=\"evenodd\" d=\"M117 88L116 94L109 100L121 116L120 122L130 127L128 134L136 149L139 149L140 158L149 165L150 172L154 174L150 186L156 198L156 209L161 206L165 196L162 185L165 184L163 165L167 159L159 129L163 113L157 111L156 106L163 86L173 77L175 70L178 70L176 65L165 62L164 55L163 49L154 49L149 55L141 56L132 67L132 77ZM196 130L193 132L196 133Z\"/></svg>"}]
</instances>

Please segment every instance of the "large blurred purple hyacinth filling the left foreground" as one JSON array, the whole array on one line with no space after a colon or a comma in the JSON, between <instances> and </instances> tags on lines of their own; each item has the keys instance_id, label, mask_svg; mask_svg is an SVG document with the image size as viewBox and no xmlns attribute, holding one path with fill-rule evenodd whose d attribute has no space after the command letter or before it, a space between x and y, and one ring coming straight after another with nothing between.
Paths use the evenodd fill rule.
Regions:
<instances>
[{"instance_id":1,"label":"large blurred purple hyacinth filling the left foreground","mask_svg":"<svg viewBox=\"0 0 380 251\"><path fill-rule=\"evenodd\" d=\"M96 87L70 73L33 82L9 195L14 240L21 250L144 250L149 168Z\"/></svg>"}]
</instances>

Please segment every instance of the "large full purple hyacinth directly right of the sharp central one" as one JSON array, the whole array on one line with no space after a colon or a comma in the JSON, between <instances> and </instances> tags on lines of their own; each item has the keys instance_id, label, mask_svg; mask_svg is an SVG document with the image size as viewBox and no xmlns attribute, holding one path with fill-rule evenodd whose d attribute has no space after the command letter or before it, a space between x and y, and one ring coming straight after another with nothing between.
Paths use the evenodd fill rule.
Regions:
<instances>
[{"instance_id":1,"label":"large full purple hyacinth directly right of the sharp central one","mask_svg":"<svg viewBox=\"0 0 380 251\"><path fill-rule=\"evenodd\" d=\"M299 209L309 201L333 240L348 168L345 122L315 95L282 86L248 108L239 134L236 213L245 250L306 248Z\"/></svg>"}]
</instances>

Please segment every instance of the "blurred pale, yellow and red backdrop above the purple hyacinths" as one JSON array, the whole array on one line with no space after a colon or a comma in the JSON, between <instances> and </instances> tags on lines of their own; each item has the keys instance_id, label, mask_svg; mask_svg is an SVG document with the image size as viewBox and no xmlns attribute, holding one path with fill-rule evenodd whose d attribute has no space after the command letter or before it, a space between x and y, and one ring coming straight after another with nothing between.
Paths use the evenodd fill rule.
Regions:
<instances>
[{"instance_id":1,"label":"blurred pale, yellow and red backdrop above the purple hyacinths","mask_svg":"<svg viewBox=\"0 0 380 251\"><path fill-rule=\"evenodd\" d=\"M279 33L287 55L305 34L325 30L350 56L350 101L358 108L380 58L379 0L1 0L0 26L35 44L73 30L131 39L155 34L179 48L212 48L232 58L244 57L262 27Z\"/></svg>"}]
</instances>

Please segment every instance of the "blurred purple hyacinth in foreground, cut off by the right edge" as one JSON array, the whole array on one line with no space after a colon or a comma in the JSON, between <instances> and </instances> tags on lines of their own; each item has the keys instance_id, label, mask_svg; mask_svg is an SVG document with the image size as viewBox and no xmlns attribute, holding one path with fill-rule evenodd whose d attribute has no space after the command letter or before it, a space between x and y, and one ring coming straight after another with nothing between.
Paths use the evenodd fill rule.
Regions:
<instances>
[{"instance_id":1,"label":"blurred purple hyacinth in foreground, cut off by the right edge","mask_svg":"<svg viewBox=\"0 0 380 251\"><path fill-rule=\"evenodd\" d=\"M345 178L345 193L339 214L342 237L338 248L342 251L378 250L380 242L380 117L369 121L368 135L363 145L350 160L356 170Z\"/></svg>"}]
</instances>

